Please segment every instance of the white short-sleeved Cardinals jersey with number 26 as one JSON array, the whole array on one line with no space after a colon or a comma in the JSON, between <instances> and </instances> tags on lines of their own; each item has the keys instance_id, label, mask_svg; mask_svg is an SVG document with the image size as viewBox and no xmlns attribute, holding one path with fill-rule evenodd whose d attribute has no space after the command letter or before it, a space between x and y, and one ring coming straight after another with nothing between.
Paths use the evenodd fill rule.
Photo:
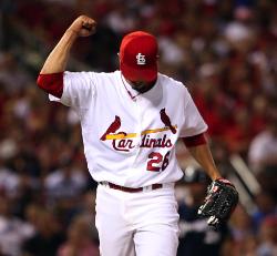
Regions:
<instances>
[{"instance_id":1,"label":"white short-sleeved Cardinals jersey with number 26","mask_svg":"<svg viewBox=\"0 0 277 256\"><path fill-rule=\"evenodd\" d=\"M64 72L61 99L80 116L84 154L96 182L127 187L176 182L183 175L175 156L178 137L207 130L187 89L160 74L138 93L120 71Z\"/></svg>"}]
</instances>

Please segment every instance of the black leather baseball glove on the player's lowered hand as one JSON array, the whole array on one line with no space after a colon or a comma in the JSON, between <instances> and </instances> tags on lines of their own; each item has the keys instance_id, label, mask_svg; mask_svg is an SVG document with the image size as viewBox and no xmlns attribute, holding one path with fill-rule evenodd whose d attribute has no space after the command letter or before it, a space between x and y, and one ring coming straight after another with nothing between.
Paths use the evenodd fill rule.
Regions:
<instances>
[{"instance_id":1,"label":"black leather baseball glove on the player's lowered hand","mask_svg":"<svg viewBox=\"0 0 277 256\"><path fill-rule=\"evenodd\" d=\"M235 186L225 178L218 178L208 186L207 196L198 208L198 214L208 217L208 225L218 227L228 221L237 203L238 193Z\"/></svg>"}]
</instances>

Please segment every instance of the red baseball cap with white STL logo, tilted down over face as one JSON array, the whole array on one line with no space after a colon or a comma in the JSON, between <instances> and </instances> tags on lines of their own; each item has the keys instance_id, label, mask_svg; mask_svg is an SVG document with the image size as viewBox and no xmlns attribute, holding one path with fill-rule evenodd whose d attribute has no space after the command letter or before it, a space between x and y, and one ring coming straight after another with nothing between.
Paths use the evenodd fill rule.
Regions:
<instances>
[{"instance_id":1,"label":"red baseball cap with white STL logo, tilted down over face","mask_svg":"<svg viewBox=\"0 0 277 256\"><path fill-rule=\"evenodd\" d=\"M152 82L157 78L157 41L143 31L126 34L120 47L120 69L130 81Z\"/></svg>"}]
</instances>

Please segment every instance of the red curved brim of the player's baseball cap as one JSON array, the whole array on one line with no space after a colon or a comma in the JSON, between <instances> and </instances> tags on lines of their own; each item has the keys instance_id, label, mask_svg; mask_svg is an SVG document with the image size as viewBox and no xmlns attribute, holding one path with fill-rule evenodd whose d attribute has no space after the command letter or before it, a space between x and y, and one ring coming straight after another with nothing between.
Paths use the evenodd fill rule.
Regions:
<instances>
[{"instance_id":1,"label":"red curved brim of the player's baseball cap","mask_svg":"<svg viewBox=\"0 0 277 256\"><path fill-rule=\"evenodd\" d=\"M140 66L132 68L124 63L121 63L120 65L121 72L124 75L125 79L130 81L145 81L145 82L152 82L157 79L157 65L151 65L151 66Z\"/></svg>"}]
</instances>

